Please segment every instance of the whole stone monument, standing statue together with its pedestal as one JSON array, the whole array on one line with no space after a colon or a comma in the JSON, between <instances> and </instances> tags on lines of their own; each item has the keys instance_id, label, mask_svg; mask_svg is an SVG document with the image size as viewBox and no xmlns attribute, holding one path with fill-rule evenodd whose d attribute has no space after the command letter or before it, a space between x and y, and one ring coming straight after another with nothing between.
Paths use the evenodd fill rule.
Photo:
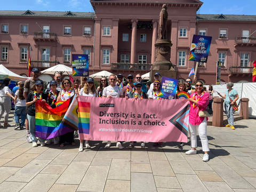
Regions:
<instances>
[{"instance_id":1,"label":"whole stone monument, standing statue together with its pedestal","mask_svg":"<svg viewBox=\"0 0 256 192\"><path fill-rule=\"evenodd\" d=\"M167 39L167 19L167 5L164 4L159 14L158 34L155 43L156 60L150 72L151 81L154 81L155 73L160 73L161 76L176 78L177 71L173 69L170 61L172 42Z\"/></svg>"}]
</instances>

